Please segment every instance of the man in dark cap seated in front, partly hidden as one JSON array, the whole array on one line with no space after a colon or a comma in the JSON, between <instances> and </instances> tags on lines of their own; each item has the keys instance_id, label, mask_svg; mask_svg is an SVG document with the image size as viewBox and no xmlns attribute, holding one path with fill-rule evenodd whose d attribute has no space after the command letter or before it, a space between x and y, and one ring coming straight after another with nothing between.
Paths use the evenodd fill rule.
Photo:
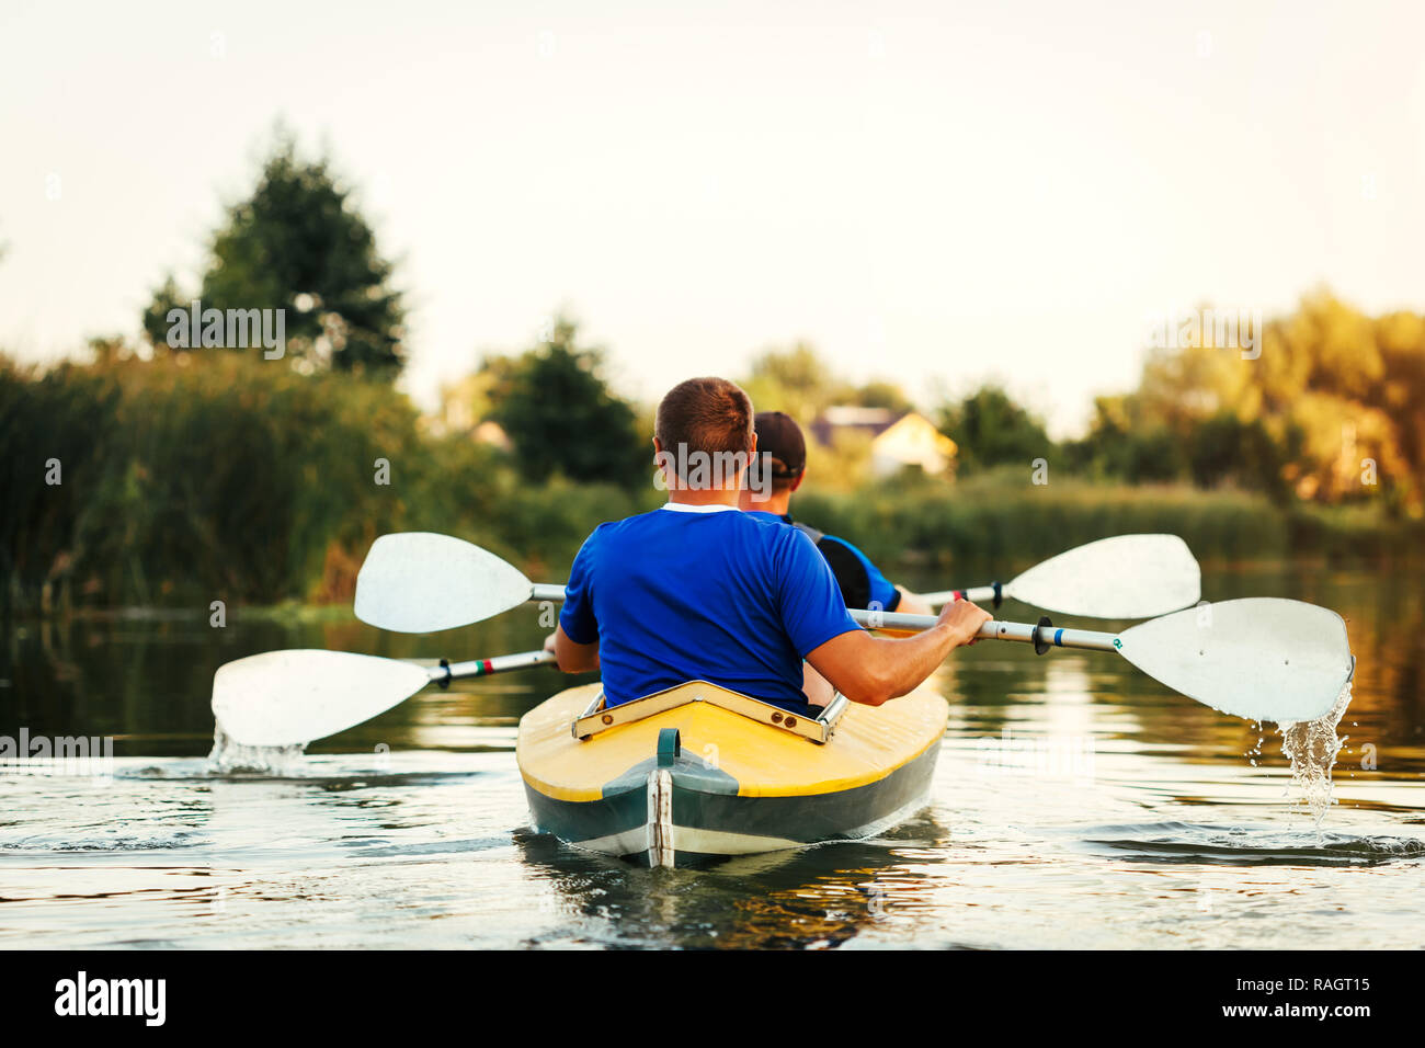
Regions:
<instances>
[{"instance_id":1,"label":"man in dark cap seated in front, partly hidden","mask_svg":"<svg viewBox=\"0 0 1425 1048\"><path fill-rule=\"evenodd\" d=\"M742 489L742 510L804 530L831 565L846 607L933 615L915 593L891 585L871 559L849 542L792 520L792 492L807 479L807 439L795 419L779 411L757 412L755 426L757 459Z\"/></svg>"}]
</instances>

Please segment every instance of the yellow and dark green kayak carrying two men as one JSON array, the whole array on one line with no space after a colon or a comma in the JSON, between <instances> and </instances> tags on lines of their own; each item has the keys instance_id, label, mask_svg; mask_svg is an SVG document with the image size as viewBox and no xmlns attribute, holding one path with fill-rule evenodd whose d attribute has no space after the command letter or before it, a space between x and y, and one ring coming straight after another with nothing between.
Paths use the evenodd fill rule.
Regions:
<instances>
[{"instance_id":1,"label":"yellow and dark green kayak carrying two men","mask_svg":"<svg viewBox=\"0 0 1425 1048\"><path fill-rule=\"evenodd\" d=\"M598 684L520 719L534 827L647 867L884 833L926 803L949 707L928 684L802 717L694 680L607 707Z\"/></svg>"}]
</instances>

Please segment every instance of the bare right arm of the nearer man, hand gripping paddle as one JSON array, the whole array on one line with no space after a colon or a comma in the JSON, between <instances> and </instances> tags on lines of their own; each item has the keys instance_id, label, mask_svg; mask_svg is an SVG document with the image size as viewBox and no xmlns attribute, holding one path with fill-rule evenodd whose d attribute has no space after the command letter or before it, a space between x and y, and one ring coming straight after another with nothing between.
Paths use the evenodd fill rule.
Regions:
<instances>
[{"instance_id":1,"label":"bare right arm of the nearer man, hand gripping paddle","mask_svg":"<svg viewBox=\"0 0 1425 1048\"><path fill-rule=\"evenodd\" d=\"M807 662L851 702L881 706L919 687L952 649L975 643L989 619L983 609L956 600L943 607L935 626L915 636L851 630L809 652Z\"/></svg>"}]
</instances>

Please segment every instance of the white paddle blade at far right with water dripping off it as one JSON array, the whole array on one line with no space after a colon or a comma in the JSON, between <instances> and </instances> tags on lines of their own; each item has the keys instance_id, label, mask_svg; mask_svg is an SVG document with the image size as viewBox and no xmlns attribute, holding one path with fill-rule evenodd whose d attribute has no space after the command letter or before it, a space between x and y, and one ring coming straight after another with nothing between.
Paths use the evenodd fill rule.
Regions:
<instances>
[{"instance_id":1,"label":"white paddle blade at far right with water dripping off it","mask_svg":"<svg viewBox=\"0 0 1425 1048\"><path fill-rule=\"evenodd\" d=\"M1119 643L1150 677L1247 720L1317 720L1351 679L1345 622L1300 600L1188 607L1124 630Z\"/></svg>"}]
</instances>

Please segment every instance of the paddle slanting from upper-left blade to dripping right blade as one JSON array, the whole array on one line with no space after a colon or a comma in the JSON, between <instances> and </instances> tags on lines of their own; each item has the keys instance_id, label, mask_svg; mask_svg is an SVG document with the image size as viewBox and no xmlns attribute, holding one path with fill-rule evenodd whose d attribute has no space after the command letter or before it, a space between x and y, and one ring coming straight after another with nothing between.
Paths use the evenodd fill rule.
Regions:
<instances>
[{"instance_id":1,"label":"paddle slanting from upper-left blade to dripping right blade","mask_svg":"<svg viewBox=\"0 0 1425 1048\"><path fill-rule=\"evenodd\" d=\"M561 600L563 586L536 586L519 569L467 542L425 532L383 535L356 576L356 616L382 629L425 630L482 622L529 600ZM928 615L852 612L871 629L922 630ZM1298 600L1251 597L1188 607L1123 633L988 622L985 640L1117 652L1176 692L1248 720L1315 720L1351 677L1345 623ZM399 702L399 700L398 700Z\"/></svg>"}]
</instances>

